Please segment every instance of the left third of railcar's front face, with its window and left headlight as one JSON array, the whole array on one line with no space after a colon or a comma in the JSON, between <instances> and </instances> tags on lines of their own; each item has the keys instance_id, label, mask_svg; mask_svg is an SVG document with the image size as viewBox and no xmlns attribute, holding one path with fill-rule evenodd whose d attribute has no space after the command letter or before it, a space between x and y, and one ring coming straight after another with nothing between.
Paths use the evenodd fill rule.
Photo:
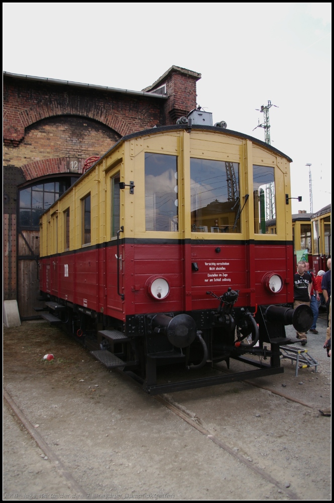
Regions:
<instances>
[{"instance_id":1,"label":"left third of railcar's front face, with its window and left headlight","mask_svg":"<svg viewBox=\"0 0 334 503\"><path fill-rule=\"evenodd\" d=\"M125 220L129 314L185 309L178 139L179 134L171 133L134 145L134 195L124 191L129 201Z\"/></svg>"}]
</instances>

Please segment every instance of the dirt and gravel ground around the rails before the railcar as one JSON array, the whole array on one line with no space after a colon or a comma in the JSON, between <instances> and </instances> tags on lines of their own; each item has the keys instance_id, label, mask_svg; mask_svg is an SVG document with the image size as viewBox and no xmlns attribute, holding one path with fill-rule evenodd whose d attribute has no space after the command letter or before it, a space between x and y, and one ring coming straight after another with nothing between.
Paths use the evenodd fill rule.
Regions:
<instances>
[{"instance_id":1,"label":"dirt and gravel ground around the rails before the railcar","mask_svg":"<svg viewBox=\"0 0 334 503\"><path fill-rule=\"evenodd\" d=\"M254 380L309 407L249 382L165 396L304 500L331 499L330 417L318 412L330 405L324 319L318 329L307 345L317 373L295 377L284 360L284 374ZM293 499L45 322L5 328L4 385L87 499ZM6 405L3 490L4 499L83 499Z\"/></svg>"}]
</instances>

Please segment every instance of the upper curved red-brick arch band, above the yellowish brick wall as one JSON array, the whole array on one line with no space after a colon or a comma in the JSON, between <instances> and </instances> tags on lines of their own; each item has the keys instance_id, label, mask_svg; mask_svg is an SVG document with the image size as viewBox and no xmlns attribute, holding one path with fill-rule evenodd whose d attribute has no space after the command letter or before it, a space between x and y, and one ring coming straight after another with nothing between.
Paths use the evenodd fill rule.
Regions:
<instances>
[{"instance_id":1,"label":"upper curved red-brick arch band, above the yellowish brick wall","mask_svg":"<svg viewBox=\"0 0 334 503\"><path fill-rule=\"evenodd\" d=\"M64 100L66 101L66 100ZM25 136L25 128L49 117L60 115L72 115L87 117L105 124L121 136L125 136L132 131L131 125L117 114L92 103L38 103L37 105L21 110L20 112L11 110L4 113L4 141L5 144L12 143L18 145Z\"/></svg>"}]
</instances>

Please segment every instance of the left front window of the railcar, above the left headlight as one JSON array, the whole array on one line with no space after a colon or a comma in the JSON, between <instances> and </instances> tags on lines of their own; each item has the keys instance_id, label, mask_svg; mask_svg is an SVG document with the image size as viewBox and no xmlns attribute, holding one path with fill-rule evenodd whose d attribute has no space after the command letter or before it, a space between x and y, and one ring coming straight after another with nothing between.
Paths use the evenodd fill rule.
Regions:
<instances>
[{"instance_id":1,"label":"left front window of the railcar, above the left headlight","mask_svg":"<svg viewBox=\"0 0 334 503\"><path fill-rule=\"evenodd\" d=\"M178 230L177 191L177 156L146 152L146 230Z\"/></svg>"}]
</instances>

